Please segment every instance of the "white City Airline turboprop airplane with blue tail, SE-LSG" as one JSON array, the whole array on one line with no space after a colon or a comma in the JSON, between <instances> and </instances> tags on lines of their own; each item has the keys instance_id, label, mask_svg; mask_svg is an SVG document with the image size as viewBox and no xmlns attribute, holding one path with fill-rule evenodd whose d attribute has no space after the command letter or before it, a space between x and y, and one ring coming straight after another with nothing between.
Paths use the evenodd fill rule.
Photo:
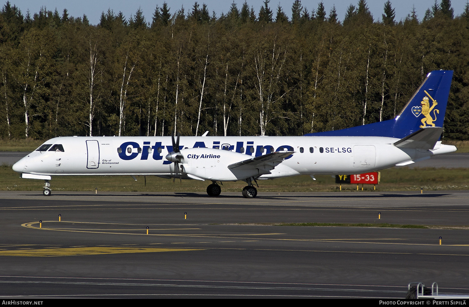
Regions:
<instances>
[{"instance_id":1,"label":"white City Airline turboprop airplane with blue tail, SE-LSG","mask_svg":"<svg viewBox=\"0 0 469 307\"><path fill-rule=\"evenodd\" d=\"M13 165L22 178L51 176L155 175L212 181L242 180L245 198L255 198L257 180L307 174L360 174L408 165L456 151L440 141L453 71L430 72L391 120L303 136L69 136L56 137ZM181 144L181 145L180 145Z\"/></svg>"}]
</instances>

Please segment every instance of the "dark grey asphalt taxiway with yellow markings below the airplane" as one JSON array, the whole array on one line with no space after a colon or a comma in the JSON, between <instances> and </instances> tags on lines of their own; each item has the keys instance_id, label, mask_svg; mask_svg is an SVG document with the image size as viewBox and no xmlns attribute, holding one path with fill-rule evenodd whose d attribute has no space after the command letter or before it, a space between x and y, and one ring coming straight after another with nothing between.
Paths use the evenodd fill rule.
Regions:
<instances>
[{"instance_id":1,"label":"dark grey asphalt taxiway with yellow markings below the airplane","mask_svg":"<svg viewBox=\"0 0 469 307\"><path fill-rule=\"evenodd\" d=\"M468 202L469 191L0 192L0 296L404 298L415 281L469 293ZM273 225L309 222L433 227Z\"/></svg>"}]
</instances>

